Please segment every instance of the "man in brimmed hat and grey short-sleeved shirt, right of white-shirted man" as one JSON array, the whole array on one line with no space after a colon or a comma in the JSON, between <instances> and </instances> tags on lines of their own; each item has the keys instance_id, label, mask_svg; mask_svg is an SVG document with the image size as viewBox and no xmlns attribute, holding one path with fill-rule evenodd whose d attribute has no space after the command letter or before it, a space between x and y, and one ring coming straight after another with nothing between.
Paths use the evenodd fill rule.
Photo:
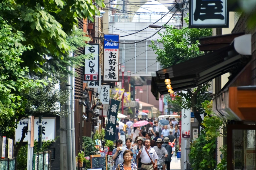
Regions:
<instances>
[{"instance_id":1,"label":"man in brimmed hat and grey short-sleeved shirt, right of white-shirted man","mask_svg":"<svg viewBox=\"0 0 256 170\"><path fill-rule=\"evenodd\" d=\"M161 157L163 156L163 157L162 157L160 160L158 160L158 161L159 161L160 164L163 165L163 167L162 167L161 169L162 169L162 170L165 170L165 158L168 157L168 152L167 152L167 150L166 150L164 147L162 147L162 144L163 144L162 138L158 138L157 141L156 141L156 143L157 143L157 146L153 147L153 149L155 149L155 151L156 151L156 153L157 153L157 156L158 156L159 158L161 158Z\"/></svg>"}]
</instances>

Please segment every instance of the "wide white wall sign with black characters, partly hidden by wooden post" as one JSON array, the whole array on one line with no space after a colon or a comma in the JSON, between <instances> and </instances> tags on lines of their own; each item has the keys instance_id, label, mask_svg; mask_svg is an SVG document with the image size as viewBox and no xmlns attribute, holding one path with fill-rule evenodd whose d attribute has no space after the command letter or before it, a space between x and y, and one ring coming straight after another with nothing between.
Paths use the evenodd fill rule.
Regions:
<instances>
[{"instance_id":1,"label":"wide white wall sign with black characters, partly hidden by wooden post","mask_svg":"<svg viewBox=\"0 0 256 170\"><path fill-rule=\"evenodd\" d=\"M24 128L26 128L26 125L28 123L28 119L25 118L23 120L20 120L18 122L17 129L15 131L15 139L16 142L19 142L22 136L22 131ZM38 118L35 118L34 123L34 137L35 140L38 140ZM55 140L55 131L56 131L56 118L43 118L42 120L42 141L46 142L49 140ZM27 134L23 142L27 142Z\"/></svg>"}]
</instances>

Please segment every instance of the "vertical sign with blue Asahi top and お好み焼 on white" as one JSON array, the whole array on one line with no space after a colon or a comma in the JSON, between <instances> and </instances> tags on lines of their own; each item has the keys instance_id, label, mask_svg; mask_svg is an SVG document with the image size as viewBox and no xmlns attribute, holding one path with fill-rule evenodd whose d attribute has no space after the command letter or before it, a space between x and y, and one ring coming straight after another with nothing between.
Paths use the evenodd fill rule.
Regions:
<instances>
[{"instance_id":1,"label":"vertical sign with blue Asahi top and \u304a\u597d\u307f\u713c on white","mask_svg":"<svg viewBox=\"0 0 256 170\"><path fill-rule=\"evenodd\" d=\"M119 43L117 43L118 41L119 35L104 35L104 81L119 81Z\"/></svg>"}]
</instances>

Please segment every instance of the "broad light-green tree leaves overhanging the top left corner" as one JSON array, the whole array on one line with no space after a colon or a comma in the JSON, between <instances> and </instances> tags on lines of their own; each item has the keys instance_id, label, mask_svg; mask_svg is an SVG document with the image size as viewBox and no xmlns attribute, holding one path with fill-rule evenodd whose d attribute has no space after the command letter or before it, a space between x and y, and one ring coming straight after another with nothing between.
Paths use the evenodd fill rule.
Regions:
<instances>
[{"instance_id":1,"label":"broad light-green tree leaves overhanging the top left corner","mask_svg":"<svg viewBox=\"0 0 256 170\"><path fill-rule=\"evenodd\" d=\"M45 56L63 59L64 54L69 54L71 49L66 38L74 36L78 18L93 21L93 16L99 14L92 0L3 1L9 7L0 14L12 27L24 32L26 41L22 44L33 47L22 53L23 66L36 72L43 72L39 66L47 61ZM105 7L101 0L95 2Z\"/></svg>"}]
</instances>

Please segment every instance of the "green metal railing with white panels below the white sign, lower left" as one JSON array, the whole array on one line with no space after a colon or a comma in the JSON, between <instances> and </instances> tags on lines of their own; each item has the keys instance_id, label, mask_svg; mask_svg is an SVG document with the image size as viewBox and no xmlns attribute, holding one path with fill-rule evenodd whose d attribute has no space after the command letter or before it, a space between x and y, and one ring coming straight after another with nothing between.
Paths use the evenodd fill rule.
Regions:
<instances>
[{"instance_id":1,"label":"green metal railing with white panels below the white sign, lower left","mask_svg":"<svg viewBox=\"0 0 256 170\"><path fill-rule=\"evenodd\" d=\"M33 170L51 170L51 151L34 153Z\"/></svg>"}]
</instances>

